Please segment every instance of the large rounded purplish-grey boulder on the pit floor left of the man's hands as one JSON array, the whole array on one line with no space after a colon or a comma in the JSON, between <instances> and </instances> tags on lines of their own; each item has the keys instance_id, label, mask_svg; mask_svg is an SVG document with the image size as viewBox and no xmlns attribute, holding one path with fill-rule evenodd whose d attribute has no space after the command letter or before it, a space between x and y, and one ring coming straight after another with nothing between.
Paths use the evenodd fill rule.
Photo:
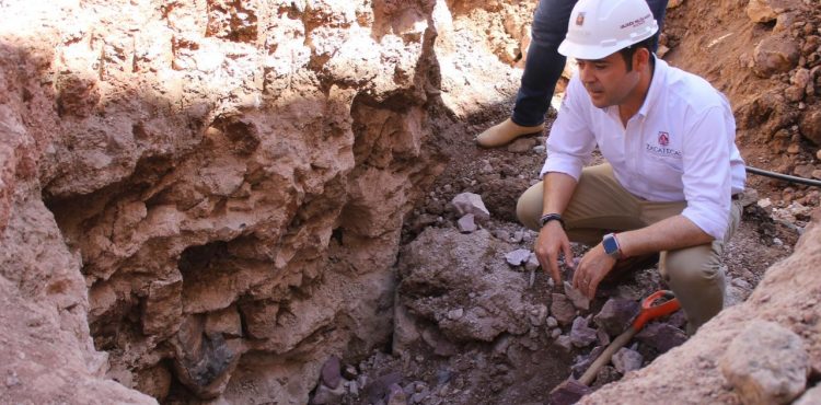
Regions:
<instances>
[{"instance_id":1,"label":"large rounded purplish-grey boulder on the pit floor left of the man's hands","mask_svg":"<svg viewBox=\"0 0 821 405\"><path fill-rule=\"evenodd\" d=\"M540 311L523 300L522 274L494 261L501 246L486 230L466 235L429 228L402 255L401 304L454 342L493 342L502 333L529 332L528 314ZM541 313L543 322L547 308L542 305Z\"/></svg>"}]
</instances>

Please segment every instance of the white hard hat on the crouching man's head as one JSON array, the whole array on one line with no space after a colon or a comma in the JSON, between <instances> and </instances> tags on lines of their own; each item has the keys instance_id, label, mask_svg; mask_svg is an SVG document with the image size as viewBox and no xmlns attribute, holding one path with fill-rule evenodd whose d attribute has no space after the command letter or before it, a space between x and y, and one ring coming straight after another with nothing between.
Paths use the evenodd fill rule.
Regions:
<instances>
[{"instance_id":1,"label":"white hard hat on the crouching man's head","mask_svg":"<svg viewBox=\"0 0 821 405\"><path fill-rule=\"evenodd\" d=\"M601 59L649 38L659 24L645 0L580 0L573 8L558 53Z\"/></svg>"}]
</instances>

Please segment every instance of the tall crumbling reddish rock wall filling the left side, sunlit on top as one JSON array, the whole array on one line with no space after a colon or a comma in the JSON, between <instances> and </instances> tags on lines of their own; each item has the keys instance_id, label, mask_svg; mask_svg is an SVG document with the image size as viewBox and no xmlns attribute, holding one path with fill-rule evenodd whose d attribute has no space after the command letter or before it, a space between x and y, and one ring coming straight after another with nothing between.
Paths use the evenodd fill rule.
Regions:
<instances>
[{"instance_id":1,"label":"tall crumbling reddish rock wall filling the left side, sunlit on top","mask_svg":"<svg viewBox=\"0 0 821 405\"><path fill-rule=\"evenodd\" d=\"M386 343L400 228L442 167L429 111L514 86L528 19L456 36L477 7L3 4L2 396L302 403L329 355Z\"/></svg>"}]
</instances>

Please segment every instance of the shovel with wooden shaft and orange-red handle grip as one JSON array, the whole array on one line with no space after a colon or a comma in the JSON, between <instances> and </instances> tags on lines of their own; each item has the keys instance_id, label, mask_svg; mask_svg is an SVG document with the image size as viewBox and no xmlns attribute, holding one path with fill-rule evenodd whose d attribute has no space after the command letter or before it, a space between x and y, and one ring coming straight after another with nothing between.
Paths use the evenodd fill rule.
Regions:
<instances>
[{"instance_id":1,"label":"shovel with wooden shaft and orange-red handle grip","mask_svg":"<svg viewBox=\"0 0 821 405\"><path fill-rule=\"evenodd\" d=\"M660 302L657 303L657 301ZM679 308L681 308L679 300L675 298L673 292L669 290L659 290L645 298L645 300L641 301L641 311L638 313L638 316L636 316L633 323L627 327L627 329L610 343L608 348L605 348L604 351L599 355L595 361L590 364L590 367L587 369L587 371L585 371L585 373L578 381L569 379L556 386L551 392L550 396L551 398L554 398L553 401L551 401L551 403L565 403L565 401L569 401L568 403L575 403L581 396L589 393L590 389L588 389L587 386L590 385L591 382L593 382L593 380L595 379L595 374L599 372L599 369L610 362L610 359L613 357L613 355L618 351L618 349L624 347L624 345L626 345L627 342L633 338L633 336L641 331L641 328L648 321L669 315L678 311Z\"/></svg>"}]
</instances>

